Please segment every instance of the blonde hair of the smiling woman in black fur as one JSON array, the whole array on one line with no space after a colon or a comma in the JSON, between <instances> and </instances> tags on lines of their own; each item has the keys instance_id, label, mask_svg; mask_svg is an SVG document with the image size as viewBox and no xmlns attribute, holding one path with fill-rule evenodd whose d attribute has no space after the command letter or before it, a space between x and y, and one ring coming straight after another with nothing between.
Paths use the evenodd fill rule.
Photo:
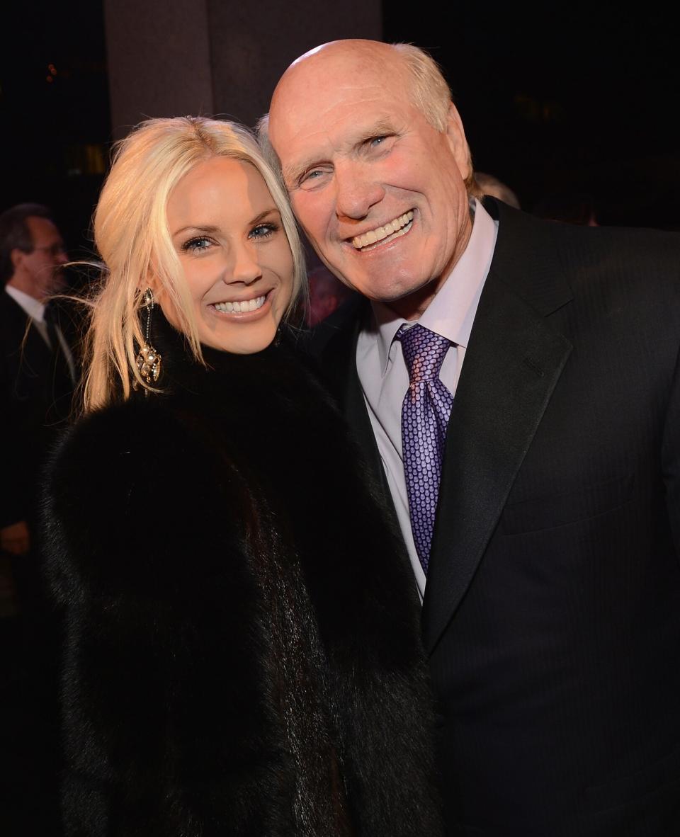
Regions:
<instances>
[{"instance_id":1,"label":"blonde hair of the smiling woman in black fur","mask_svg":"<svg viewBox=\"0 0 680 837\"><path fill-rule=\"evenodd\" d=\"M167 199L183 175L214 156L250 162L265 180L291 247L293 293L286 316L293 310L305 282L304 254L286 190L250 131L200 116L144 121L117 144L95 209L95 245L104 265L100 290L90 300L86 412L116 396L129 398L133 382L150 389L135 358L144 342L139 314L151 276L177 312L193 356L203 362L188 286L167 228Z\"/></svg>"}]
</instances>

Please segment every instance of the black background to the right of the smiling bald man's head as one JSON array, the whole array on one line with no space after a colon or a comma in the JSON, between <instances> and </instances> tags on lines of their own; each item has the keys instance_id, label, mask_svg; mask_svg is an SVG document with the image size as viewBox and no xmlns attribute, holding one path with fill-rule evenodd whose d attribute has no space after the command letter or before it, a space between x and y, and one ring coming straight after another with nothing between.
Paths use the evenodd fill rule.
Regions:
<instances>
[{"instance_id":1,"label":"black background to the right of the smiling bald man's head","mask_svg":"<svg viewBox=\"0 0 680 837\"><path fill-rule=\"evenodd\" d=\"M582 191L601 223L680 226L671 7L551 3L529 15L511 3L457 4L445 23L429 5L386 14L384 39L424 47L444 67L477 169L529 211Z\"/></svg>"}]
</instances>

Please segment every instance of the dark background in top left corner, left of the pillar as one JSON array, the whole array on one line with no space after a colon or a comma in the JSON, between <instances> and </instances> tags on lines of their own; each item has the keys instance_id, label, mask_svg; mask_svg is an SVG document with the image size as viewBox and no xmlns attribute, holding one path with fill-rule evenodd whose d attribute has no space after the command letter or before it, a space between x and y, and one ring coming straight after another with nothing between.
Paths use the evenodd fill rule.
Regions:
<instances>
[{"instance_id":1,"label":"dark background in top left corner, left of the pillar","mask_svg":"<svg viewBox=\"0 0 680 837\"><path fill-rule=\"evenodd\" d=\"M13 0L0 20L0 211L47 203L80 255L111 138L102 5Z\"/></svg>"}]
</instances>

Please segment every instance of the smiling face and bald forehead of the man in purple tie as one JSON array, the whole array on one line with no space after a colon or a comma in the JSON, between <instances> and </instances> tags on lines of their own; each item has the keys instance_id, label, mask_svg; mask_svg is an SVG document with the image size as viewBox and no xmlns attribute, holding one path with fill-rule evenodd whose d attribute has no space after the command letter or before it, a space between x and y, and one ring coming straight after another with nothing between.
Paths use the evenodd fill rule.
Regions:
<instances>
[{"instance_id":1,"label":"smiling face and bald forehead of the man in purple tie","mask_svg":"<svg viewBox=\"0 0 680 837\"><path fill-rule=\"evenodd\" d=\"M440 133L411 103L403 65L331 46L276 90L270 141L291 203L322 261L404 317L419 316L466 247L465 139L455 110Z\"/></svg>"}]
</instances>

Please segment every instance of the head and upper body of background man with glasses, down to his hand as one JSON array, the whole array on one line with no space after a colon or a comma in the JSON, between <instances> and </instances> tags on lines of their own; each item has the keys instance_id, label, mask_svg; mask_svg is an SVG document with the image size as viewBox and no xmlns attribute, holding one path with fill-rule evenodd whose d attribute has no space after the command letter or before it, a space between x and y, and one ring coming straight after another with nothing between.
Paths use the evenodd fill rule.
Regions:
<instances>
[{"instance_id":1,"label":"head and upper body of background man with glasses, down to his hand","mask_svg":"<svg viewBox=\"0 0 680 837\"><path fill-rule=\"evenodd\" d=\"M45 306L67 261L48 208L0 214L0 548L14 554L28 552L38 471L75 386L70 347Z\"/></svg>"}]
</instances>

